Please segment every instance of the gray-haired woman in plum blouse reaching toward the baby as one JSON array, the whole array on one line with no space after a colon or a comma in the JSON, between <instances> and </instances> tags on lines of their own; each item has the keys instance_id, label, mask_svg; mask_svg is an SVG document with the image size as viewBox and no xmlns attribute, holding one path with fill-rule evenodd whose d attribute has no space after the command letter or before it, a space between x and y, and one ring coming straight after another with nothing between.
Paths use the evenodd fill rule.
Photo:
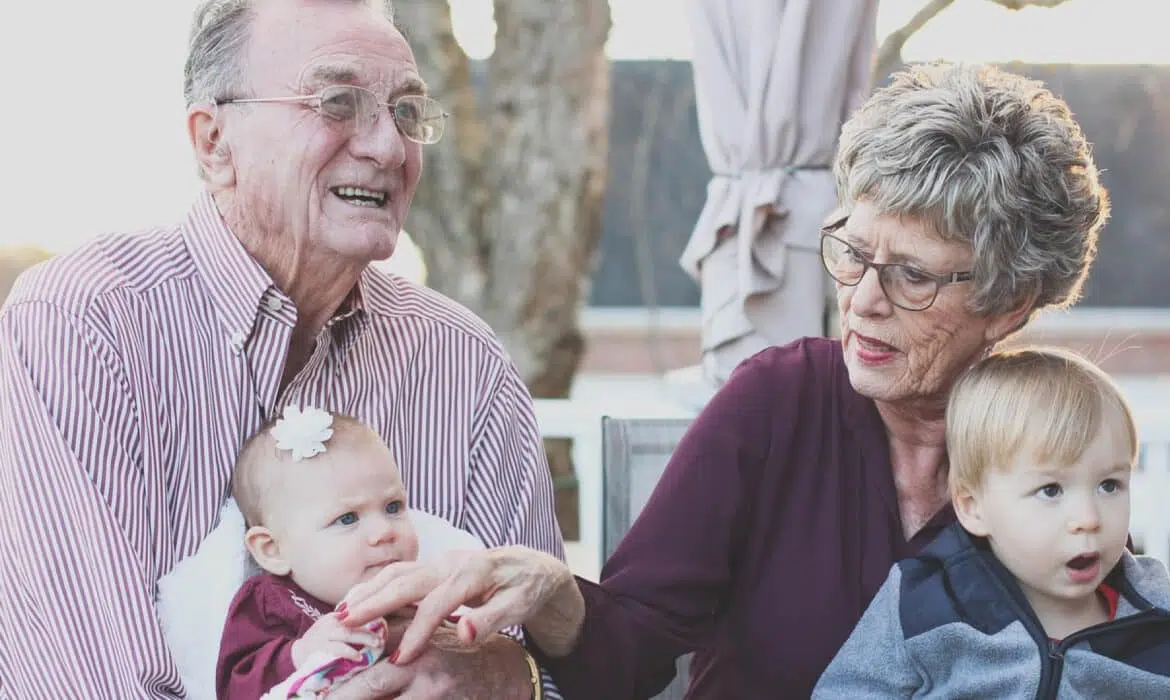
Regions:
<instances>
[{"instance_id":1,"label":"gray-haired woman in plum blouse reaching toward the baby","mask_svg":"<svg viewBox=\"0 0 1170 700\"><path fill-rule=\"evenodd\" d=\"M694 421L600 584L519 548L393 565L352 624L419 602L399 663L460 603L525 625L567 698L806 698L890 565L955 520L956 378L1080 293L1108 198L1067 105L994 68L895 76L846 124L821 238L841 341L744 362Z\"/></svg>"}]
</instances>

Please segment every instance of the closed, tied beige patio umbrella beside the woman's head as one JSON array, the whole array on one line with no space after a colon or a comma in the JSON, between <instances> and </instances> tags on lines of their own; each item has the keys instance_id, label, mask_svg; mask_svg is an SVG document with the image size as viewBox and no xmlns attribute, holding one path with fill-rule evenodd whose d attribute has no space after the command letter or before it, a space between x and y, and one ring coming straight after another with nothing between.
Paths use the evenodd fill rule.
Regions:
<instances>
[{"instance_id":1,"label":"closed, tied beige patio umbrella beside the woman's head","mask_svg":"<svg viewBox=\"0 0 1170 700\"><path fill-rule=\"evenodd\" d=\"M869 92L878 0L690 0L700 136L714 176L680 263L701 287L703 376L821 335L830 171Z\"/></svg>"}]
</instances>

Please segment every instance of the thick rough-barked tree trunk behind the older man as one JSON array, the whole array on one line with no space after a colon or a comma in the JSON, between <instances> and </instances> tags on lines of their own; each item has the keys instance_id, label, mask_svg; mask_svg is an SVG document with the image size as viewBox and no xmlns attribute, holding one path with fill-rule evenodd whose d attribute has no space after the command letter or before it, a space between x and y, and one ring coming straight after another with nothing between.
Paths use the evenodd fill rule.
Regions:
<instances>
[{"instance_id":1,"label":"thick rough-barked tree trunk behind the older man","mask_svg":"<svg viewBox=\"0 0 1170 700\"><path fill-rule=\"evenodd\" d=\"M580 307L601 236L608 155L608 0L496 2L488 97L477 105L450 8L400 1L399 23L452 123L425 153L407 229L428 283L487 321L536 397L569 394ZM553 442L553 441L550 441ZM553 478L572 475L564 441ZM576 499L562 502L570 536Z\"/></svg>"}]
</instances>

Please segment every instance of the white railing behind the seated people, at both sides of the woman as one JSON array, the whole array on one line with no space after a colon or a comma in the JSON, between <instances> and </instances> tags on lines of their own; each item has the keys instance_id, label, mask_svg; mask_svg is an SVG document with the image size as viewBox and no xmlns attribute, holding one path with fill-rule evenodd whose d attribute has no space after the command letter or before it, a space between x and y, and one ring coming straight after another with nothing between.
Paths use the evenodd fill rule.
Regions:
<instances>
[{"instance_id":1,"label":"white railing behind the seated people, at both sides of the woman","mask_svg":"<svg viewBox=\"0 0 1170 700\"><path fill-rule=\"evenodd\" d=\"M1134 406L1142 438L1142 464L1133 479L1131 531L1147 554L1170 565L1170 404L1158 394L1165 379L1134 379L1123 389ZM584 399L538 399L537 420L545 438L572 438L577 469L580 538L566 542L574 571L597 578L601 568L601 418L676 418L693 412L663 400L639 398L636 387Z\"/></svg>"}]
</instances>

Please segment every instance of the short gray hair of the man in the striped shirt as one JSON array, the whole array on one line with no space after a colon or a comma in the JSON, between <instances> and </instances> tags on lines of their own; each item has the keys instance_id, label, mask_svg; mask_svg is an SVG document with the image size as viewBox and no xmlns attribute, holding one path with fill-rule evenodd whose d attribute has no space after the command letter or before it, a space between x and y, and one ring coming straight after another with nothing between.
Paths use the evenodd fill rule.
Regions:
<instances>
[{"instance_id":1,"label":"short gray hair of the man in the striped shirt","mask_svg":"<svg viewBox=\"0 0 1170 700\"><path fill-rule=\"evenodd\" d=\"M391 0L336 0L363 2L381 9L394 21ZM256 0L204 0L195 8L183 69L183 95L187 105L240 96L247 78L245 53Z\"/></svg>"}]
</instances>

